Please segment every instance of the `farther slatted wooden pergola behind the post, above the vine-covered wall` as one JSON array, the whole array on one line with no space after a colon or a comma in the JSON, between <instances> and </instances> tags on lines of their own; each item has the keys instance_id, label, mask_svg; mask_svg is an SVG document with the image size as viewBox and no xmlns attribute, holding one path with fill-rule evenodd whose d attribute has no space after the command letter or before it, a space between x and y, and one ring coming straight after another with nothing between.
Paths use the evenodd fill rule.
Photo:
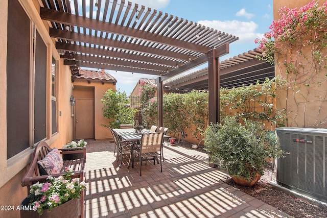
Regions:
<instances>
[{"instance_id":1,"label":"farther slatted wooden pergola behind the post, above the vine-covered wall","mask_svg":"<svg viewBox=\"0 0 327 218\"><path fill-rule=\"evenodd\" d=\"M242 85L264 82L275 77L275 66L260 60L262 51L250 50L219 63L220 87L237 88ZM208 67L191 74L165 81L166 92L188 92L190 90L208 90Z\"/></svg>"}]
</instances>

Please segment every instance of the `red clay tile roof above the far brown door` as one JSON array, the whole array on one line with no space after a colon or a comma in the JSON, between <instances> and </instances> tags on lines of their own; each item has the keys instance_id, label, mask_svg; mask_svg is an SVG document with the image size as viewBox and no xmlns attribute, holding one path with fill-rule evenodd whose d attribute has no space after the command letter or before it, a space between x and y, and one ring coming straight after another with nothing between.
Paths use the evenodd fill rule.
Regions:
<instances>
[{"instance_id":1,"label":"red clay tile roof above the far brown door","mask_svg":"<svg viewBox=\"0 0 327 218\"><path fill-rule=\"evenodd\" d=\"M99 70L89 70L89 69L79 69L78 75L73 76L76 79L85 79L85 80L100 80L107 82L117 82L117 80L108 74L104 69Z\"/></svg>"}]
</instances>

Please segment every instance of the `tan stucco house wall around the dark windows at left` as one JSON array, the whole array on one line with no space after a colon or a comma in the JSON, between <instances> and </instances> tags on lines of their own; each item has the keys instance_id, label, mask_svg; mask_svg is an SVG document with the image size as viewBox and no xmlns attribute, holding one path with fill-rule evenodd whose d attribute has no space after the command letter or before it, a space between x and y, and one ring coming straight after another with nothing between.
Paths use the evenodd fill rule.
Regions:
<instances>
[{"instance_id":1,"label":"tan stucco house wall around the dark windows at left","mask_svg":"<svg viewBox=\"0 0 327 218\"><path fill-rule=\"evenodd\" d=\"M33 20L38 32L48 46L48 79L46 94L47 114L47 139L51 147L61 148L63 144L73 138L73 125L69 97L71 95L71 71L60 60L53 39L49 36L49 26L39 17L39 5L37 0L23 1L21 5ZM0 0L0 205L14 206L14 211L0 210L0 217L19 217L16 207L27 196L27 187L21 187L20 181L26 173L33 149L26 149L7 160L7 15L8 0ZM17 27L19 28L19 27ZM51 134L51 63L52 56L59 62L57 71L57 133ZM19 137L19 136L17 136Z\"/></svg>"}]
</instances>

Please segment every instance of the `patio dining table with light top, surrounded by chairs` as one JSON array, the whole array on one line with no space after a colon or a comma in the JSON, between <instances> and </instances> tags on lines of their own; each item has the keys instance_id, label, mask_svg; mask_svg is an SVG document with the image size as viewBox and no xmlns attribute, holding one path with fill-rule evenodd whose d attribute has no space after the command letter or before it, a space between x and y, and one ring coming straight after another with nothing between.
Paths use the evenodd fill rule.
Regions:
<instances>
[{"instance_id":1,"label":"patio dining table with light top, surrounded by chairs","mask_svg":"<svg viewBox=\"0 0 327 218\"><path fill-rule=\"evenodd\" d=\"M126 129L112 129L119 137L121 137L122 139L124 139L125 141L130 141L133 142L133 146L131 149L131 155L128 161L128 165L127 168L129 168L130 162L132 161L132 168L134 167L134 155L133 155L133 149L136 149L138 146L137 144L139 144L139 142L141 142L141 138L143 134L147 134L147 133L155 133L153 131L150 131L148 129L143 129L141 132L136 133L135 129L133 128L126 128ZM170 136L168 135L164 135L164 138L170 138ZM162 148L161 148L161 152L162 152Z\"/></svg>"}]
</instances>

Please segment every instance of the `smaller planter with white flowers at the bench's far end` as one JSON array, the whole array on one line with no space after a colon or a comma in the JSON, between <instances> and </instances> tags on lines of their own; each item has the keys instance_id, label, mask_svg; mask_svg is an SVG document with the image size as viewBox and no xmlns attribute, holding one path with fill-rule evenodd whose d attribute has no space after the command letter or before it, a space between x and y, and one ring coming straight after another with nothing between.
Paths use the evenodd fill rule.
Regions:
<instances>
[{"instance_id":1,"label":"smaller planter with white flowers at the bench's far end","mask_svg":"<svg viewBox=\"0 0 327 218\"><path fill-rule=\"evenodd\" d=\"M71 154L63 154L63 160L76 160L84 158L86 161L86 144L87 142L84 139L79 140L78 142L72 141L63 146L61 151L71 151Z\"/></svg>"}]
</instances>

